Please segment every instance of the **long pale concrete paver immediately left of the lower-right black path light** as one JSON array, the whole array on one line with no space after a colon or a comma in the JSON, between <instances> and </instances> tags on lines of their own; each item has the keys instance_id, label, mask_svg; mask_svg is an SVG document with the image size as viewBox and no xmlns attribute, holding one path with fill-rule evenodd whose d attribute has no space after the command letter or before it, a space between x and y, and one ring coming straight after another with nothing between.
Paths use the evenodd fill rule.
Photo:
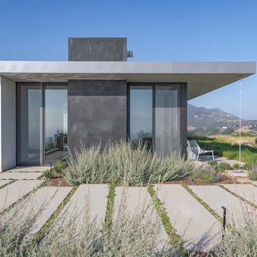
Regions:
<instances>
[{"instance_id":1,"label":"long pale concrete paver immediately left of the lower-right black path light","mask_svg":"<svg viewBox=\"0 0 257 257\"><path fill-rule=\"evenodd\" d=\"M154 186L171 224L190 250L210 251L221 239L221 223L181 185Z\"/></svg>"}]
</instances>

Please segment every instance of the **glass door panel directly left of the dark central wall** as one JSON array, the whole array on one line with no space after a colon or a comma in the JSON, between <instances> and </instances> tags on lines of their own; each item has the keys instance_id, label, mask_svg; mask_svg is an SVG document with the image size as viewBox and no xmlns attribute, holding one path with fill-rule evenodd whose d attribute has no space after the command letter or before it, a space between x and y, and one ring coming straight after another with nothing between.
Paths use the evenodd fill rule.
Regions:
<instances>
[{"instance_id":1,"label":"glass door panel directly left of the dark central wall","mask_svg":"<svg viewBox=\"0 0 257 257\"><path fill-rule=\"evenodd\" d=\"M45 99L45 162L56 163L67 153L67 86L46 85Z\"/></svg>"}]
</instances>

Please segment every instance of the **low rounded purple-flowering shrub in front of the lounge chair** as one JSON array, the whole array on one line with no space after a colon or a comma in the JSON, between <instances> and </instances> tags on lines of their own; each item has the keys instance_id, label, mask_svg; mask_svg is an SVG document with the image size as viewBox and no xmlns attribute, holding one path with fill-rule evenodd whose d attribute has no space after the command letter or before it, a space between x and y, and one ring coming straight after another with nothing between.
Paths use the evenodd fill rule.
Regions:
<instances>
[{"instance_id":1,"label":"low rounded purple-flowering shrub in front of the lounge chair","mask_svg":"<svg viewBox=\"0 0 257 257\"><path fill-rule=\"evenodd\" d=\"M214 183L221 180L222 173L221 171L215 171L210 166L201 165L193 172L193 178L201 183Z\"/></svg>"}]
</instances>

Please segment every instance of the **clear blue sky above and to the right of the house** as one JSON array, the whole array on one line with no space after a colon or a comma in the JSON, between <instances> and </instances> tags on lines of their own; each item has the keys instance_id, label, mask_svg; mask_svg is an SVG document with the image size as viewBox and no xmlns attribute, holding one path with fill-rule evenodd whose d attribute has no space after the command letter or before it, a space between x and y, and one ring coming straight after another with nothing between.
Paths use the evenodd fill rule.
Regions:
<instances>
[{"instance_id":1,"label":"clear blue sky above and to the right of the house","mask_svg":"<svg viewBox=\"0 0 257 257\"><path fill-rule=\"evenodd\" d=\"M66 61L69 36L121 36L131 61L256 61L256 0L0 0L0 60ZM190 101L238 114L238 82ZM257 76L243 118L257 119Z\"/></svg>"}]
</instances>

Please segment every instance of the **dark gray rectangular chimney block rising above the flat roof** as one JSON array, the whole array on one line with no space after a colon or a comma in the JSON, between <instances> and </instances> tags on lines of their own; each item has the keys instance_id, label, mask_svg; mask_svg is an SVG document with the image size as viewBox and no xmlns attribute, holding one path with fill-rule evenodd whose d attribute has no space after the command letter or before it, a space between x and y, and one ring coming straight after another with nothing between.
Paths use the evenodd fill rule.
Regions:
<instances>
[{"instance_id":1,"label":"dark gray rectangular chimney block rising above the flat roof","mask_svg":"<svg viewBox=\"0 0 257 257\"><path fill-rule=\"evenodd\" d=\"M69 61L126 61L126 38L69 38Z\"/></svg>"}]
</instances>

